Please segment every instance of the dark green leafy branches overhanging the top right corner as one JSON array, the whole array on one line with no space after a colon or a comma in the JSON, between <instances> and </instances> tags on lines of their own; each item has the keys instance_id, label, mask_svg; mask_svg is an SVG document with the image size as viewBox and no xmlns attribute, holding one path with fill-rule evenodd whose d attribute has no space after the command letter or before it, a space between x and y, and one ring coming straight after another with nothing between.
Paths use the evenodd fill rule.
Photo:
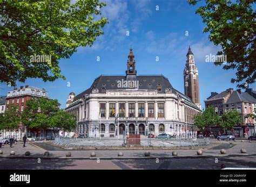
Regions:
<instances>
[{"instance_id":1,"label":"dark green leafy branches overhanging the top right corner","mask_svg":"<svg viewBox=\"0 0 256 187\"><path fill-rule=\"evenodd\" d=\"M191 5L198 2L188 0ZM210 32L210 41L222 48L217 55L227 56L223 69L237 69L236 77L231 82L238 83L240 88L247 87L256 79L254 3L255 0L207 0L196 10L206 23L203 32ZM217 66L223 63L214 62Z\"/></svg>"}]
</instances>

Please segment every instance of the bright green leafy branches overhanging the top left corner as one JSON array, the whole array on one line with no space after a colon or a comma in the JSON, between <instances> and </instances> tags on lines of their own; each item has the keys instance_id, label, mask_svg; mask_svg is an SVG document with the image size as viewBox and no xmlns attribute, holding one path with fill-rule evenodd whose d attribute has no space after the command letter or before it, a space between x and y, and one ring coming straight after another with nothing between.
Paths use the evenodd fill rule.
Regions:
<instances>
[{"instance_id":1,"label":"bright green leafy branches overhanging the top left corner","mask_svg":"<svg viewBox=\"0 0 256 187\"><path fill-rule=\"evenodd\" d=\"M0 82L65 79L58 61L103 34L103 6L98 0L0 1Z\"/></svg>"}]
</instances>

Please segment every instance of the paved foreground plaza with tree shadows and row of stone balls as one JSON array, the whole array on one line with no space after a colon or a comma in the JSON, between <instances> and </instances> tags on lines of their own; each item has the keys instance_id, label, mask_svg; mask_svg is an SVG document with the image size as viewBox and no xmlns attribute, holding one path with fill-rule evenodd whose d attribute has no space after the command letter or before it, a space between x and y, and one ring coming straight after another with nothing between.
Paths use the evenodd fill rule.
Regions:
<instances>
[{"instance_id":1,"label":"paved foreground plaza with tree shadows and row of stone balls","mask_svg":"<svg viewBox=\"0 0 256 187\"><path fill-rule=\"evenodd\" d=\"M42 142L43 143L43 142ZM177 149L178 156L172 156L173 150L147 150L151 153L145 157L146 150L49 150L50 156L44 156L46 149L28 143L22 147L18 142L14 147L4 145L0 155L0 169L220 169L221 164L226 167L255 168L256 141L211 140L211 144L218 143L210 149L201 149L203 155L197 155L197 149ZM225 148L227 154L220 154ZM245 154L240 149L245 148ZM15 155L11 156L11 150ZM30 156L25 156L29 151ZM66 153L71 152L71 157ZM95 157L90 157L95 152ZM118 152L124 156L118 157Z\"/></svg>"}]
</instances>

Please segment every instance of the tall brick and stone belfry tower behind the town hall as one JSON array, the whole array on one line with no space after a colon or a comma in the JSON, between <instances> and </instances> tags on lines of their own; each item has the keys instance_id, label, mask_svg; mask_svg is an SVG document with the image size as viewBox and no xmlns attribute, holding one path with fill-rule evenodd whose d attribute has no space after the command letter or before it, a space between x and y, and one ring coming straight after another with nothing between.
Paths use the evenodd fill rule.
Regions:
<instances>
[{"instance_id":1,"label":"tall brick and stone belfry tower behind the town hall","mask_svg":"<svg viewBox=\"0 0 256 187\"><path fill-rule=\"evenodd\" d=\"M190 46L186 56L186 67L183 73L185 95L190 97L199 109L201 109L199 100L198 69L194 63L194 54L192 53Z\"/></svg>"}]
</instances>

